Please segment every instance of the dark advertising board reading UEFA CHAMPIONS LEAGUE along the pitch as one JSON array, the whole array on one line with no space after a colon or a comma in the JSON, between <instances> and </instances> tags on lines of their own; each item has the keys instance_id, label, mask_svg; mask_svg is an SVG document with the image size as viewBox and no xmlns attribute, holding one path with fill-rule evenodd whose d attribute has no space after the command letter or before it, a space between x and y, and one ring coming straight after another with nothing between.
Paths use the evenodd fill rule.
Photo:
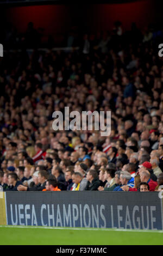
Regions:
<instances>
[{"instance_id":1,"label":"dark advertising board reading UEFA CHAMPIONS LEAGUE along the pitch","mask_svg":"<svg viewBox=\"0 0 163 256\"><path fill-rule=\"evenodd\" d=\"M162 229L158 192L1 193L1 225Z\"/></svg>"}]
</instances>

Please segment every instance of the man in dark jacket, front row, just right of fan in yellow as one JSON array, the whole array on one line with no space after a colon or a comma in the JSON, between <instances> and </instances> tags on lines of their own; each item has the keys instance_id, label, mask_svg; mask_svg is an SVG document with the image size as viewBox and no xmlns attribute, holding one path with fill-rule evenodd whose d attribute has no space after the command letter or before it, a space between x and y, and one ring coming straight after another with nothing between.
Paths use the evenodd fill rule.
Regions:
<instances>
[{"instance_id":1,"label":"man in dark jacket, front row, just right of fan in yellow","mask_svg":"<svg viewBox=\"0 0 163 256\"><path fill-rule=\"evenodd\" d=\"M101 182L98 179L98 174L96 170L90 169L86 175L87 185L85 190L97 191L97 188L100 186Z\"/></svg>"}]
</instances>

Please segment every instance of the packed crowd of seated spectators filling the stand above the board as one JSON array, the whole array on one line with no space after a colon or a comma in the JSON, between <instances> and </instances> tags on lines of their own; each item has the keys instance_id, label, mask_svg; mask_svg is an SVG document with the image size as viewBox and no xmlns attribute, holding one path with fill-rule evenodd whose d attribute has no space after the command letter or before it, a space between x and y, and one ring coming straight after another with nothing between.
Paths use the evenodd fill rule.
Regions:
<instances>
[{"instance_id":1,"label":"packed crowd of seated spectators filling the stand above the board","mask_svg":"<svg viewBox=\"0 0 163 256\"><path fill-rule=\"evenodd\" d=\"M163 185L162 32L120 22L78 51L6 52L0 60L4 191L159 191ZM128 44L126 41L128 40ZM101 131L54 131L53 112L111 111ZM70 119L71 120L71 119ZM105 119L106 124L106 119Z\"/></svg>"}]
</instances>

